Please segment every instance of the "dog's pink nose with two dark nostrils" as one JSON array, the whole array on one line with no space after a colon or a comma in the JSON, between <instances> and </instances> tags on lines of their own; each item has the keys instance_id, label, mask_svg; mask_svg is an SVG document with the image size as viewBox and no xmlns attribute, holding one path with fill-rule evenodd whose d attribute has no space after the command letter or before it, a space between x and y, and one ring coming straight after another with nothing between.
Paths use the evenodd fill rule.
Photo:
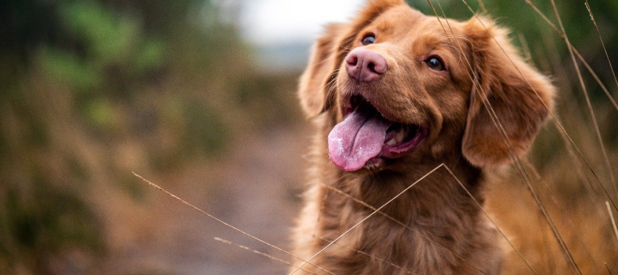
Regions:
<instances>
[{"instance_id":1,"label":"dog's pink nose with two dark nostrils","mask_svg":"<svg viewBox=\"0 0 618 275\"><path fill-rule=\"evenodd\" d=\"M384 57L368 49L353 49L345 57L345 68L348 75L362 82L378 80L386 73L386 67Z\"/></svg>"}]
</instances>

